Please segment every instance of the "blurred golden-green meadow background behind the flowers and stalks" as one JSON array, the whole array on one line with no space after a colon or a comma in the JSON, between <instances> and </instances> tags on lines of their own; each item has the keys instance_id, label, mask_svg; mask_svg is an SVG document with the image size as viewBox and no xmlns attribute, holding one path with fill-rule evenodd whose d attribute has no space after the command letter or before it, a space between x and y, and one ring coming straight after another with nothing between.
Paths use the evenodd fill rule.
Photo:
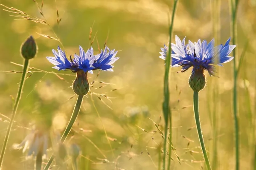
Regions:
<instances>
[{"instance_id":1,"label":"blurred golden-green meadow background behind the flowers and stalks","mask_svg":"<svg viewBox=\"0 0 256 170\"><path fill-rule=\"evenodd\" d=\"M8 1L0 0L6 6L13 6L32 16L41 18L40 13L32 0ZM164 63L158 58L160 47L168 42L168 5L169 0L77 0L76 3L69 0L50 1L44 0L44 14L54 31L61 39L67 52L67 56L78 53L78 46L84 49L89 47L88 35L93 25L93 36L97 31L99 45L102 48L108 36L107 45L110 48L120 50L121 57L114 64L114 72L100 72L99 77L90 75L90 82L95 80L92 92L106 94L111 98L108 101L104 96L102 100L109 105L108 108L96 95L93 95L95 105L102 118L115 157L105 137L102 123L93 108L90 98L85 98L81 112L73 127L73 137L69 142L79 144L82 156L80 157L81 169L157 169L159 146L163 144L163 138L157 131L154 122L158 123L162 114L163 99L163 74ZM230 37L230 13L228 0L221 1L221 18L219 30L220 42L224 43ZM1 7L2 8L2 7ZM61 23L57 24L56 8ZM199 38L211 40L214 37L212 31L210 2L207 0L180 1L175 16L174 33L180 38L187 36L187 40ZM253 154L248 154L253 146L248 144L248 138L254 132L248 126L248 108L244 105L246 99L250 99L251 108L255 108L255 46L256 46L256 20L255 4L253 1L241 1L237 13L238 24L238 48L242 51L247 39L250 42L245 54L245 60L241 65L241 73L246 73L247 86L244 86L244 74L239 74L237 84L238 112L240 121L240 167L250 169ZM32 34L38 42L38 56L33 59L30 66L46 71L54 71L52 65L45 58L52 56L51 49L60 45L58 41L41 37L47 34L54 37L48 26L38 25L30 21L14 20L9 13L0 10L0 50L1 71L17 70L22 68L12 62L22 64L19 54L21 42ZM109 33L109 34L108 34ZM174 41L174 40L172 40ZM93 43L94 51L98 51L96 41ZM240 54L238 54L240 56ZM218 97L221 101L220 119L218 119L218 169L234 169L234 144L233 144L233 120L232 120L232 62L225 67L219 67L219 77L211 77L208 81L218 79ZM179 68L172 69L172 83L170 99L172 106L172 143L177 155L181 159L178 163L172 156L172 168L176 170L200 169L204 166L201 159L200 146L192 112L192 91L186 81L190 70L186 73L176 73ZM67 73L62 71L59 73ZM17 111L15 128L12 131L3 169L25 170L32 167L32 161L26 160L21 150L13 150L12 144L20 143L29 132L24 127L30 127L30 123L37 122L44 126L51 125L52 129L64 130L72 113L75 98L70 88L74 76L46 73L30 73L26 80L23 98ZM7 74L0 72L0 113L10 117L12 113L12 96L16 95L16 89L20 81L20 73ZM103 85L99 81L109 82ZM210 83L207 83L210 86ZM176 91L177 85L177 91ZM97 89L96 89L97 88ZM207 87L208 88L208 87ZM246 88L249 94L244 95ZM111 91L118 89L116 91ZM207 90L201 91L201 101L210 100ZM203 103L203 102L201 102ZM205 102L206 103L206 102ZM201 125L204 130L204 139L209 148L209 155L214 152L212 144L212 126L209 121L207 105L201 105ZM253 114L255 111L253 112ZM148 119L147 116L150 118ZM0 136L3 139L8 125L8 118L1 116ZM255 119L255 115L254 115ZM252 121L252 120L250 120ZM163 119L159 122L160 130L163 130ZM141 127L142 129L140 129ZM152 139L153 137L153 139ZM2 144L3 141L0 141ZM132 147L131 147L132 144ZM97 149L98 148L98 149ZM147 149L147 150L146 150ZM148 153L150 155L148 155ZM49 155L51 150L49 150ZM84 157L89 158L85 159ZM106 161L106 160L108 161ZM212 159L212 157L210 157ZM104 163L102 163L104 162Z\"/></svg>"}]
</instances>

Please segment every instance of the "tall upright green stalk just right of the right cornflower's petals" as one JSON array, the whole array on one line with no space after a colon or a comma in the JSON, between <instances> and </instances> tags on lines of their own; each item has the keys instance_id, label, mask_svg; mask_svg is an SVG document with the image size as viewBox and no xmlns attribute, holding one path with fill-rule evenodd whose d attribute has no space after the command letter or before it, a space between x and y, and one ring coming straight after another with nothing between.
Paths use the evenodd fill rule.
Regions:
<instances>
[{"instance_id":1,"label":"tall upright green stalk just right of the right cornflower's petals","mask_svg":"<svg viewBox=\"0 0 256 170\"><path fill-rule=\"evenodd\" d=\"M239 0L230 0L231 6L231 36L233 39L233 44L236 44L236 14L237 14L237 7L238 7ZM236 44L237 45L237 44ZM236 150L236 170L239 170L239 122L238 122L238 115L237 115L237 67L236 67L236 51L237 48L233 50L233 76L234 76L234 88L233 88L233 112L234 112L234 128L235 128L235 150Z\"/></svg>"}]
</instances>

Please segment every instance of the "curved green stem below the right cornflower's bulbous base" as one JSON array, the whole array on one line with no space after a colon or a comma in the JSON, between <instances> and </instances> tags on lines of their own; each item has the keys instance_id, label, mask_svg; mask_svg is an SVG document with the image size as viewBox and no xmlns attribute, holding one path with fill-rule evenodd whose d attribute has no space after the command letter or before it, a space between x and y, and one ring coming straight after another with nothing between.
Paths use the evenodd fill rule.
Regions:
<instances>
[{"instance_id":1,"label":"curved green stem below the right cornflower's bulbous base","mask_svg":"<svg viewBox=\"0 0 256 170\"><path fill-rule=\"evenodd\" d=\"M208 156L207 156L207 152L206 152L206 148L205 148L205 145L204 145L204 138L203 138L203 134L202 134L202 130L201 130L201 125L200 125L200 119L199 119L199 97L198 97L198 91L194 91L193 106L194 106L196 129L198 131L198 137L199 137L199 141L200 141L201 148L202 148L202 151L203 151L205 164L207 166L207 170L211 170L210 162L209 162L209 159L208 159Z\"/></svg>"}]
</instances>

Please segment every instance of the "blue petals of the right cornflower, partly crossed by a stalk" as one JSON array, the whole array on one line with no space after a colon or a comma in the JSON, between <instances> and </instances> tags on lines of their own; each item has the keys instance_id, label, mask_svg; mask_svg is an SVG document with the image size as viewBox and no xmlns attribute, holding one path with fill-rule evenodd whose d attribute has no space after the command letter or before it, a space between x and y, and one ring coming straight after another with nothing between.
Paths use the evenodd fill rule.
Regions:
<instances>
[{"instance_id":1,"label":"blue petals of the right cornflower, partly crossed by a stalk","mask_svg":"<svg viewBox=\"0 0 256 170\"><path fill-rule=\"evenodd\" d=\"M185 37L186 38L186 37ZM228 56L236 45L229 45L230 38L227 40L225 45L218 45L214 47L214 38L207 44L204 40L201 42L192 43L189 40L189 44L185 45L185 38L180 40L179 37L175 37L176 44L172 43L172 67L182 66L181 72L187 71L190 67L195 70L207 70L210 76L215 76L215 66L220 66L221 63L231 61L234 57ZM160 58L166 59L168 47L164 45L161 48Z\"/></svg>"}]
</instances>

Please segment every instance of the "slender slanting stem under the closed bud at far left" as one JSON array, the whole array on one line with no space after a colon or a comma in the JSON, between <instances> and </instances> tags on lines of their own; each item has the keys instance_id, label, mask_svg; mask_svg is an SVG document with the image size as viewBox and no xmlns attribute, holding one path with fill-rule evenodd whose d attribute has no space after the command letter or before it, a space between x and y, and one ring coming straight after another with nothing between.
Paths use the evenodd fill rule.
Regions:
<instances>
[{"instance_id":1,"label":"slender slanting stem under the closed bud at far left","mask_svg":"<svg viewBox=\"0 0 256 170\"><path fill-rule=\"evenodd\" d=\"M15 115L17 113L17 108L18 108L18 105L19 105L19 102L20 102L20 98L21 98L24 82L25 82L25 79L26 79L26 74L27 74L28 67L29 67L29 59L25 59L24 64L23 64L23 72L22 72L22 76L21 76L21 80L20 80L20 86L19 86L18 93L17 93L16 99L15 99L15 104L14 104L14 107L13 107L13 110L12 110L12 117L11 117L9 126L7 128L6 136L5 136L4 141L3 141L3 147L2 147L1 156L0 156L0 169L2 167L3 156L4 156L4 153L5 153L5 150L6 150L6 145L7 145L10 133L11 133L12 124L14 122L14 118L15 118Z\"/></svg>"}]
</instances>

